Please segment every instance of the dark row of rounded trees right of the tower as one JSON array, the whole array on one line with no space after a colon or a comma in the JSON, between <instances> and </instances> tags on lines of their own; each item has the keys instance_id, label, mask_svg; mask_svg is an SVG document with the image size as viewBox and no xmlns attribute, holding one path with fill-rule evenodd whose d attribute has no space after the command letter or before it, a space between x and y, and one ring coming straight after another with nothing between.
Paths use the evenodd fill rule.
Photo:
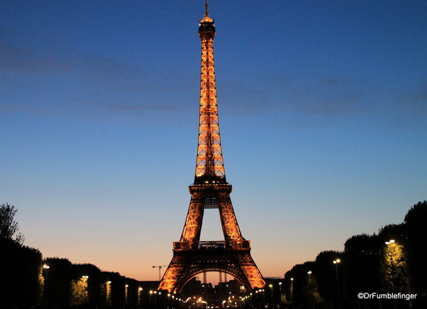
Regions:
<instances>
[{"instance_id":1,"label":"dark row of rounded trees right of the tower","mask_svg":"<svg viewBox=\"0 0 427 309\"><path fill-rule=\"evenodd\" d=\"M285 300L307 308L427 308L427 201L404 222L347 239L344 251L322 251L285 273ZM416 294L378 299L359 293Z\"/></svg>"}]
</instances>

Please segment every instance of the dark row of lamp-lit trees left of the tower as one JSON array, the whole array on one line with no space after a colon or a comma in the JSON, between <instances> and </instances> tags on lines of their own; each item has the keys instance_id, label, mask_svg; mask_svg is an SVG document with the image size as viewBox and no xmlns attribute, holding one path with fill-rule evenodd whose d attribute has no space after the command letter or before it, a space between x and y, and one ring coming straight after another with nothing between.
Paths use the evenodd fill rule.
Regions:
<instances>
[{"instance_id":1,"label":"dark row of lamp-lit trees left of the tower","mask_svg":"<svg viewBox=\"0 0 427 309\"><path fill-rule=\"evenodd\" d=\"M0 206L0 308L155 308L167 301L154 293L157 281L43 259L38 249L23 245L15 214L14 206Z\"/></svg>"}]
</instances>

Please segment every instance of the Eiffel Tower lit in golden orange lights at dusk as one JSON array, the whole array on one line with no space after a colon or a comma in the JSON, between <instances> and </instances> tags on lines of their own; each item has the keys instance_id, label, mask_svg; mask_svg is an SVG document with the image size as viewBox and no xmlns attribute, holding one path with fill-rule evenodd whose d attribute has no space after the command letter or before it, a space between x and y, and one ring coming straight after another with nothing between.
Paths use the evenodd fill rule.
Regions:
<instances>
[{"instance_id":1,"label":"Eiffel Tower lit in golden orange lights at dusk","mask_svg":"<svg viewBox=\"0 0 427 309\"><path fill-rule=\"evenodd\" d=\"M208 3L199 24L201 38L201 82L199 145L196 175L190 185L191 201L179 242L173 243L174 256L164 273L159 290L179 293L194 276L206 271L228 273L246 290L263 288L265 281L251 256L251 242L242 237L233 205L231 185L226 181L219 134L214 67L214 20ZM201 242L204 210L217 208L224 240Z\"/></svg>"}]
</instances>

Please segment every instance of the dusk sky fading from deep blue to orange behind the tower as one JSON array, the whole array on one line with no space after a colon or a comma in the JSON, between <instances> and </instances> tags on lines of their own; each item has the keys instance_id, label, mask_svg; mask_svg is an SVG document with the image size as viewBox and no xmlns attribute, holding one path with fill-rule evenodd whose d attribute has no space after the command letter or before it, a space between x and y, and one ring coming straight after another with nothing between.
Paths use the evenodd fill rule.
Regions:
<instances>
[{"instance_id":1,"label":"dusk sky fading from deep blue to orange behind the tower","mask_svg":"<svg viewBox=\"0 0 427 309\"><path fill-rule=\"evenodd\" d=\"M427 1L209 15L231 200L264 276L427 199ZM158 279L194 180L203 16L203 0L0 2L0 203L26 245ZM223 239L217 210L202 239Z\"/></svg>"}]
</instances>

